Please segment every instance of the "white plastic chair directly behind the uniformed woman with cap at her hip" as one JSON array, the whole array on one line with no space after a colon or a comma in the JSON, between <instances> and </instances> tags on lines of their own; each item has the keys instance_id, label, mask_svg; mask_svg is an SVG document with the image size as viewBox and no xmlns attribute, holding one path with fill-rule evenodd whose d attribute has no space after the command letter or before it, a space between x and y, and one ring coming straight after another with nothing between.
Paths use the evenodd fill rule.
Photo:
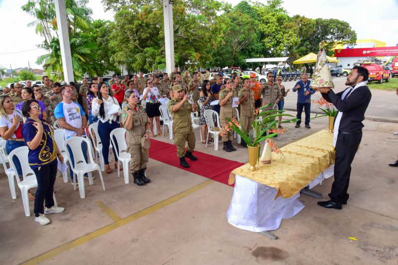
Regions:
<instances>
[{"instance_id":1,"label":"white plastic chair directly behind the uniformed woman with cap at her hip","mask_svg":"<svg viewBox=\"0 0 398 265\"><path fill-rule=\"evenodd\" d=\"M123 176L124 176L124 183L128 184L129 183L129 178L128 178L128 170L129 170L129 165L128 163L131 160L131 155L130 153L126 152L127 149L127 144L126 144L126 138L125 138L125 133L126 129L124 128L116 128L110 132L110 140L112 142L113 146L115 147L116 150L116 157L117 157L117 177L120 177L120 164L121 162L123 164ZM113 136L116 138L116 142L113 141Z\"/></svg>"}]
</instances>

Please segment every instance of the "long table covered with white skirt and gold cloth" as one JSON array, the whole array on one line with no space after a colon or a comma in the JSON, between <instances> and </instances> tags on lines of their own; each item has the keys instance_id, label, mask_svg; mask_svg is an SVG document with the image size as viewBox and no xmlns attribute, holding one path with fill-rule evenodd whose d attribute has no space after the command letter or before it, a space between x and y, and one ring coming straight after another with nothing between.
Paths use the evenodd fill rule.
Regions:
<instances>
[{"instance_id":1,"label":"long table covered with white skirt and gold cloth","mask_svg":"<svg viewBox=\"0 0 398 265\"><path fill-rule=\"evenodd\" d=\"M332 138L322 130L282 147L285 161L273 152L272 163L257 164L257 171L249 171L249 164L234 169L228 181L235 183L228 222L263 232L278 229L282 219L298 214L304 208L298 200L301 189L311 189L333 175Z\"/></svg>"}]
</instances>

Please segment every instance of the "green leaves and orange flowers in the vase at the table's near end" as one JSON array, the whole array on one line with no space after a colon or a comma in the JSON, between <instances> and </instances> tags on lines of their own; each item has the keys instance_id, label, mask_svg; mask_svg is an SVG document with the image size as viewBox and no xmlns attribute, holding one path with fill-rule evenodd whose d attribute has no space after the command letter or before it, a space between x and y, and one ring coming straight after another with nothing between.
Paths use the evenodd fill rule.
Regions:
<instances>
[{"instance_id":1,"label":"green leaves and orange flowers in the vase at the table's near end","mask_svg":"<svg viewBox=\"0 0 398 265\"><path fill-rule=\"evenodd\" d=\"M266 110L260 112L260 110L263 110L267 107L272 106L272 104L268 104L265 106L262 106L261 108L257 108L254 119L253 119L253 130L255 137L253 137L252 132L246 132L246 128L243 128L242 124L240 121L237 121L236 119L229 119L226 118L228 121L228 124L222 128L221 133L225 133L225 131L230 131L233 130L236 133L238 133L241 137L241 139L247 144L247 146L250 147L255 147L257 146L261 141L274 137L278 133L285 133L285 129L278 129L276 124L278 121L275 119L279 116L287 116L287 117L293 117L293 119L289 119L286 121L282 121L281 123L295 123L297 122L297 118L293 115L290 114L284 114L285 111L279 111L279 110ZM263 116L262 121L259 119L261 116ZM265 135L265 133L269 131L270 134ZM222 134L221 134L222 135Z\"/></svg>"}]
</instances>

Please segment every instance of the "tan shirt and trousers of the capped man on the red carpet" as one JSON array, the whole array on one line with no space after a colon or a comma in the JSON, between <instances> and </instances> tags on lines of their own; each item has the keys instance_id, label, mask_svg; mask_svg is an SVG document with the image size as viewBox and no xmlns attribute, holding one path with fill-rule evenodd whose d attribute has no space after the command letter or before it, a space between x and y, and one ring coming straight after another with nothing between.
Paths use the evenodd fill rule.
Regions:
<instances>
[{"instance_id":1,"label":"tan shirt and trousers of the capped man on the red carpet","mask_svg":"<svg viewBox=\"0 0 398 265\"><path fill-rule=\"evenodd\" d=\"M185 142L188 141L187 150L193 152L195 149L195 133L192 127L191 112L192 107L188 101L184 102L181 108L174 112L173 106L178 104L180 100L173 98L167 104L169 112L173 117L173 131L174 131L174 144L177 145L177 155L178 157L183 157L185 155Z\"/></svg>"}]
</instances>

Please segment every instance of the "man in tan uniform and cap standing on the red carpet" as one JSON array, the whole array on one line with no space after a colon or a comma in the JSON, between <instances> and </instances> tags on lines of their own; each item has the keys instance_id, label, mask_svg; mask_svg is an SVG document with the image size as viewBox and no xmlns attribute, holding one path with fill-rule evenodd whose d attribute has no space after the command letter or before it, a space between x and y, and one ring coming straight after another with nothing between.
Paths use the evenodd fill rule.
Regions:
<instances>
[{"instance_id":1,"label":"man in tan uniform and cap standing on the red carpet","mask_svg":"<svg viewBox=\"0 0 398 265\"><path fill-rule=\"evenodd\" d=\"M190 165L185 158L198 160L192 152L195 149L195 133L192 127L191 112L195 112L197 105L190 104L189 95L184 95L184 90L180 85L173 86L173 99L167 104L170 114L173 117L173 131L175 135L174 144L177 145L177 155L180 158L180 165L188 168ZM187 152L185 152L185 142L188 141Z\"/></svg>"}]
</instances>

